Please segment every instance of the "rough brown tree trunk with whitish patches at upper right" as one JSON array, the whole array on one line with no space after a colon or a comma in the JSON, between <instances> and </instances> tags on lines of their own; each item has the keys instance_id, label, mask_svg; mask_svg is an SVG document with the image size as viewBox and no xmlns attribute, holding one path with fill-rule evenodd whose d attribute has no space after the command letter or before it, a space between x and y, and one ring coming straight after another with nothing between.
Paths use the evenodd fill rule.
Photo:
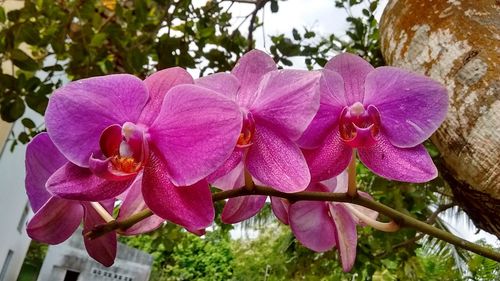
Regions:
<instances>
[{"instance_id":1,"label":"rough brown tree trunk with whitish patches at upper right","mask_svg":"<svg viewBox=\"0 0 500 281\"><path fill-rule=\"evenodd\" d=\"M455 199L500 237L500 0L391 0L380 31L388 64L447 87L449 112L431 140Z\"/></svg>"}]
</instances>

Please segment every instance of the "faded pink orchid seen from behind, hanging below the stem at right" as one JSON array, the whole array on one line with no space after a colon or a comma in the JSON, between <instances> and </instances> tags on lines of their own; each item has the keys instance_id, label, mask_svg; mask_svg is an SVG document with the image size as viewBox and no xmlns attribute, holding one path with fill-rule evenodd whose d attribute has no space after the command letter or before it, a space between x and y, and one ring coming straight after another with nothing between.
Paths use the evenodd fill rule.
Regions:
<instances>
[{"instance_id":1,"label":"faded pink orchid seen from behind, hanging below the stem at right","mask_svg":"<svg viewBox=\"0 0 500 281\"><path fill-rule=\"evenodd\" d=\"M327 181L311 183L306 191L346 192L347 173ZM358 193L371 199L368 193ZM351 270L356 260L356 225L364 225L350 209L355 208L372 219L378 216L373 210L349 203L298 201L290 204L285 199L271 197L271 204L276 217L290 225L297 240L306 248L316 252L337 248L345 272Z\"/></svg>"}]
</instances>

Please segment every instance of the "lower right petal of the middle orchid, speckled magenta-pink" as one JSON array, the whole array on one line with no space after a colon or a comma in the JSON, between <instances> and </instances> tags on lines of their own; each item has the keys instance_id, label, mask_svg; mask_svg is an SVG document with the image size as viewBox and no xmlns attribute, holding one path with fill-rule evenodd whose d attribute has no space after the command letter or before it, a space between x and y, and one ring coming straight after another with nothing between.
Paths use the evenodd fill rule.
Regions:
<instances>
[{"instance_id":1,"label":"lower right petal of the middle orchid, speckled magenta-pink","mask_svg":"<svg viewBox=\"0 0 500 281\"><path fill-rule=\"evenodd\" d=\"M265 126L257 126L246 167L260 182L283 192L306 189L311 176L298 146Z\"/></svg>"}]
</instances>

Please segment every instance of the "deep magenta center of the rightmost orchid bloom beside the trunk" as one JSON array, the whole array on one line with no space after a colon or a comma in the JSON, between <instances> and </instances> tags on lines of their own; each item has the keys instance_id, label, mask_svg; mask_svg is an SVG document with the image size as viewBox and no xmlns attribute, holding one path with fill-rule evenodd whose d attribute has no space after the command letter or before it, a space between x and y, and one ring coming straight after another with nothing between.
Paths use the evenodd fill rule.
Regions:
<instances>
[{"instance_id":1,"label":"deep magenta center of the rightmost orchid bloom beside the trunk","mask_svg":"<svg viewBox=\"0 0 500 281\"><path fill-rule=\"evenodd\" d=\"M339 132L342 140L351 147L368 147L375 143L380 131L380 115L374 106L365 109L356 102L342 110Z\"/></svg>"}]
</instances>

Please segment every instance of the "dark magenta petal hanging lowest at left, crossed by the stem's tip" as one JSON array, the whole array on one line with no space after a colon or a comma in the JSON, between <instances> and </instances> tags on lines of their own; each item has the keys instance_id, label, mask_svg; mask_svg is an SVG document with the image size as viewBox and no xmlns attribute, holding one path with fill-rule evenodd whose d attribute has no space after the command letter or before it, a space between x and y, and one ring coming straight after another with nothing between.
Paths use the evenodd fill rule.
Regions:
<instances>
[{"instance_id":1,"label":"dark magenta petal hanging lowest at left, crossed by the stem's tip","mask_svg":"<svg viewBox=\"0 0 500 281\"><path fill-rule=\"evenodd\" d=\"M109 213L112 213L113 203L114 200L107 200L107 202L101 202L101 205L103 205ZM84 234L91 231L95 226L106 223L90 203L84 203L83 206L85 208L85 217L83 221ZM83 243L85 244L89 256L102 265L109 267L115 262L117 252L116 232L108 232L92 240L84 237Z\"/></svg>"}]
</instances>

